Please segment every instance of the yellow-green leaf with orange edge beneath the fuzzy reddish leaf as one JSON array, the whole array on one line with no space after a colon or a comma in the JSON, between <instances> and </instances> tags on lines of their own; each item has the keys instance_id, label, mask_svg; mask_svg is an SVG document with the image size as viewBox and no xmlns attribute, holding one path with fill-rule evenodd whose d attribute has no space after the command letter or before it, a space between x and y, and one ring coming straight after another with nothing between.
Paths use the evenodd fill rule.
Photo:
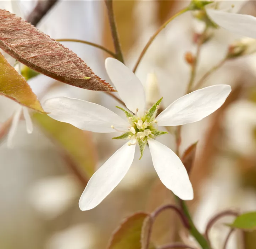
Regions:
<instances>
[{"instance_id":1,"label":"yellow-green leaf with orange edge beneath the fuzzy reddish leaf","mask_svg":"<svg viewBox=\"0 0 256 249\"><path fill-rule=\"evenodd\" d=\"M32 92L27 81L7 62L5 57L0 53L0 94L15 100L16 102L32 108L34 110L44 112L37 99Z\"/></svg>"}]
</instances>

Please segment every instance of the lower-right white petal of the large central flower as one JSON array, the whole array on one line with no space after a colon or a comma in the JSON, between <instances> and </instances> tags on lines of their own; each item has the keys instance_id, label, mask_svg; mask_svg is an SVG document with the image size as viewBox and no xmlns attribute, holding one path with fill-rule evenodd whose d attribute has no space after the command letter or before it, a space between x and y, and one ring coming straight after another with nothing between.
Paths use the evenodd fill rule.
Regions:
<instances>
[{"instance_id":1,"label":"lower-right white petal of the large central flower","mask_svg":"<svg viewBox=\"0 0 256 249\"><path fill-rule=\"evenodd\" d=\"M153 164L162 183L180 199L192 200L193 187L179 157L158 141L154 139L148 141Z\"/></svg>"}]
</instances>

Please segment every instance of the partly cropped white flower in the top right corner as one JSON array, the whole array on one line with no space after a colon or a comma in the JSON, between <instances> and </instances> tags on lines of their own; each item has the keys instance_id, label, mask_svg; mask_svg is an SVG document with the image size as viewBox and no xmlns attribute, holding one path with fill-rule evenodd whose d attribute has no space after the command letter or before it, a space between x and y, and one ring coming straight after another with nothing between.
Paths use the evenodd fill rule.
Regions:
<instances>
[{"instance_id":1,"label":"partly cropped white flower in the top right corner","mask_svg":"<svg viewBox=\"0 0 256 249\"><path fill-rule=\"evenodd\" d=\"M219 26L241 36L256 38L256 17L237 14L246 1L226 1L226 9L206 8L207 15ZM230 7L228 7L230 6ZM234 11L232 11L234 10Z\"/></svg>"}]
</instances>

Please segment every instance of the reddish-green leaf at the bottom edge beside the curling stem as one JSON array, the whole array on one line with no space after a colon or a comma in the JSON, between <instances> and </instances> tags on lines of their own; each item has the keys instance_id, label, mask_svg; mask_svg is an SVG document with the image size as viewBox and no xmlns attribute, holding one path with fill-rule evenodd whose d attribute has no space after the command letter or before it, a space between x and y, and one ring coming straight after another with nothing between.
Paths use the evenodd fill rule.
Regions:
<instances>
[{"instance_id":1,"label":"reddish-green leaf at the bottom edge beside the curling stem","mask_svg":"<svg viewBox=\"0 0 256 249\"><path fill-rule=\"evenodd\" d=\"M107 249L141 249L141 232L147 213L135 213L125 219L113 233Z\"/></svg>"}]
</instances>

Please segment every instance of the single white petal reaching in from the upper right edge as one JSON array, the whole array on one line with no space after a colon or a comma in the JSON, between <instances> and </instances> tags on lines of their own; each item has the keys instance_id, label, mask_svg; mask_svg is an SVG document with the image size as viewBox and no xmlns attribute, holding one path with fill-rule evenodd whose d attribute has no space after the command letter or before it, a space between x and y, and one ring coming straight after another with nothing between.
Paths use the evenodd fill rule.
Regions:
<instances>
[{"instance_id":1,"label":"single white petal reaching in from the upper right edge","mask_svg":"<svg viewBox=\"0 0 256 249\"><path fill-rule=\"evenodd\" d=\"M219 26L241 36L256 38L256 17L228 13L219 10L207 10L208 16Z\"/></svg>"}]
</instances>

